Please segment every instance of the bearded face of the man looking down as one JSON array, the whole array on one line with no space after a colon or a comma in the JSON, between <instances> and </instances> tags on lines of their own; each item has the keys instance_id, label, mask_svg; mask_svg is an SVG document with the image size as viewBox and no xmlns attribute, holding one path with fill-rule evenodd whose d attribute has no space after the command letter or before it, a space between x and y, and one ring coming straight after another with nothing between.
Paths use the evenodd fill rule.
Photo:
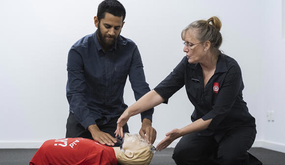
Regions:
<instances>
[{"instance_id":1,"label":"bearded face of the man looking down","mask_svg":"<svg viewBox=\"0 0 285 165\"><path fill-rule=\"evenodd\" d=\"M110 49L114 45L124 25L122 21L123 16L117 17L107 12L100 21L98 17L94 17L95 26L98 27L97 36L104 49Z\"/></svg>"}]
</instances>

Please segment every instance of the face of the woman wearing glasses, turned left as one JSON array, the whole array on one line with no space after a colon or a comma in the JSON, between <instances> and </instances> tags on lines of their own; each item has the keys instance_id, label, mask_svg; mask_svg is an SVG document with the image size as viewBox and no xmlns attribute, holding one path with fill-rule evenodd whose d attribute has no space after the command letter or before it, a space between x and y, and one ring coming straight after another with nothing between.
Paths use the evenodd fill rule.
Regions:
<instances>
[{"instance_id":1,"label":"face of the woman wearing glasses, turned left","mask_svg":"<svg viewBox=\"0 0 285 165\"><path fill-rule=\"evenodd\" d=\"M189 45L184 46L183 52L186 53L189 63L201 62L203 61L203 58L205 57L203 43L200 43L202 41L199 41L196 38L196 36L197 36L196 29L190 29L186 31L184 35L184 42ZM191 44L195 44L195 45L191 46Z\"/></svg>"}]
</instances>

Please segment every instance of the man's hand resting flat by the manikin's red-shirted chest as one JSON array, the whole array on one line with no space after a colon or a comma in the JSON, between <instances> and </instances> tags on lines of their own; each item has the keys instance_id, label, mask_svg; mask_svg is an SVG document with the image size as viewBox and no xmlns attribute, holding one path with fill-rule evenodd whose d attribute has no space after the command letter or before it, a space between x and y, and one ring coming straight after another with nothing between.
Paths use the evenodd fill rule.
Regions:
<instances>
[{"instance_id":1,"label":"man's hand resting flat by the manikin's red-shirted chest","mask_svg":"<svg viewBox=\"0 0 285 165\"><path fill-rule=\"evenodd\" d=\"M87 129L91 133L92 138L94 140L97 140L101 144L114 146L117 142L117 140L113 138L110 134L100 131L96 124L90 125Z\"/></svg>"}]
</instances>

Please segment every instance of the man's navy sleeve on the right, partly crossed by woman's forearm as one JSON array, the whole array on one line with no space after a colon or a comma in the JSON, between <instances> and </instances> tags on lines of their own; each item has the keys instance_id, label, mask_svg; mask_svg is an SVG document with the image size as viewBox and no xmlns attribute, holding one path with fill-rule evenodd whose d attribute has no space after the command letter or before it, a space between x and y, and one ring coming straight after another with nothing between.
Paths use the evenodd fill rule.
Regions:
<instances>
[{"instance_id":1,"label":"man's navy sleeve on the right, partly crossed by woman's forearm","mask_svg":"<svg viewBox=\"0 0 285 165\"><path fill-rule=\"evenodd\" d=\"M148 83L145 81L145 75L142 65L142 57L136 46L134 49L132 63L129 71L129 80L134 91L135 99L139 100L144 94L150 91ZM141 113L141 118L147 118L152 121L153 108Z\"/></svg>"}]
</instances>

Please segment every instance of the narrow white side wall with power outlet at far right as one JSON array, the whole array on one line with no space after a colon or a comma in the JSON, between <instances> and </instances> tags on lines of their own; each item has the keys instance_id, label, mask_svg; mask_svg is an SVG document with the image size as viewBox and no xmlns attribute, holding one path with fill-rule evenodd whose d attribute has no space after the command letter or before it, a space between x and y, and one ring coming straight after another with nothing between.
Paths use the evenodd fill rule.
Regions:
<instances>
[{"instance_id":1,"label":"narrow white side wall with power outlet at far right","mask_svg":"<svg viewBox=\"0 0 285 165\"><path fill-rule=\"evenodd\" d=\"M266 1L264 10L264 38L262 53L262 73L261 95L263 110L263 140L264 147L285 152L285 38L282 34L282 17L285 17L285 0ZM285 20L284 20L285 21ZM285 27L284 29L285 30ZM274 110L274 122L266 120L266 113Z\"/></svg>"}]
</instances>

